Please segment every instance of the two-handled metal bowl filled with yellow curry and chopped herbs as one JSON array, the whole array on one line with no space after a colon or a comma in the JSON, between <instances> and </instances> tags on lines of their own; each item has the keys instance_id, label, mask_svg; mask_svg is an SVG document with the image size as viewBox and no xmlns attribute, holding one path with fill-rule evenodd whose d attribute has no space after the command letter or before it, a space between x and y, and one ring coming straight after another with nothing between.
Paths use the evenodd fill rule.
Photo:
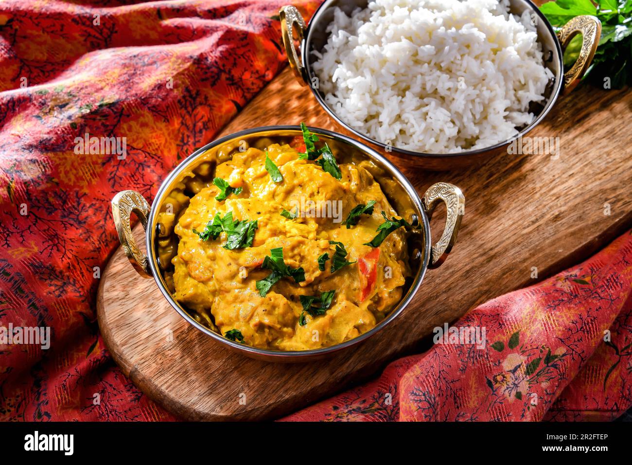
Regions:
<instances>
[{"instance_id":1,"label":"two-handled metal bowl filled with yellow curry and chopped herbs","mask_svg":"<svg viewBox=\"0 0 632 465\"><path fill-rule=\"evenodd\" d=\"M325 354L391 321L445 259L463 214L458 188L439 183L423 204L368 147L306 127L203 147L152 208L131 192L112 211L137 270L198 329L274 360ZM448 218L432 247L427 213L439 201ZM131 211L145 217L149 257L128 235Z\"/></svg>"}]
</instances>

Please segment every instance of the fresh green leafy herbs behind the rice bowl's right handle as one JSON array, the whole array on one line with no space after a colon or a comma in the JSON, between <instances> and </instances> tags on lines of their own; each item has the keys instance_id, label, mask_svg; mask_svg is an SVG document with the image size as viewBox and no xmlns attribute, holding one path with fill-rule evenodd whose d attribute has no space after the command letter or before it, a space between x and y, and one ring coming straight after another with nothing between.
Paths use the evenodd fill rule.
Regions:
<instances>
[{"instance_id":1,"label":"fresh green leafy herbs behind the rice bowl's right handle","mask_svg":"<svg viewBox=\"0 0 632 465\"><path fill-rule=\"evenodd\" d=\"M575 16L592 15L602 23L601 37L592 65L583 80L612 89L632 85L632 1L630 0L557 0L540 6L557 30ZM564 65L570 66L580 54L582 37L576 35L566 47ZM608 79L608 81L606 81Z\"/></svg>"}]
</instances>

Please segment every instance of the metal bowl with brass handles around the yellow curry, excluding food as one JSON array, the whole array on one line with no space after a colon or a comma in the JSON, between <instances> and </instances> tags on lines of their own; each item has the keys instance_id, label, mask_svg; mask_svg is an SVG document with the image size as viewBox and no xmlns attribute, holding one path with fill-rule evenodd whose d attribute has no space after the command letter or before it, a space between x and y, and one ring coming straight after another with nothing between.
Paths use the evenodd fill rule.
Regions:
<instances>
[{"instance_id":1,"label":"metal bowl with brass handles around the yellow curry, excluding food","mask_svg":"<svg viewBox=\"0 0 632 465\"><path fill-rule=\"evenodd\" d=\"M165 271L171 266L170 257L177 251L177 244L174 243L173 226L168 230L165 225L159 222L161 212L167 208L173 209L178 217L179 211L183 211L188 204L188 199L182 197L184 192L193 189L191 183L199 173L209 173L209 166L214 167L218 161L227 159L231 152L237 150L243 141L258 140L262 137L291 139L301 136L301 128L298 126L272 126L259 127L244 130L222 137L206 146L193 152L177 168L175 168L162 182L154 201L150 205L141 194L134 190L124 190L116 194L112 199L112 216L116 230L132 266L145 278L154 278L159 290L164 298L171 304L186 321L195 328L205 333L217 343L241 354L256 359L263 359L271 362L304 362L330 356L335 352L349 349L360 342L367 340L380 332L386 325L402 313L404 308L410 303L416 291L420 287L423 276L428 268L437 268L446 259L451 251L461 223L461 218L465 211L465 198L458 187L449 183L436 183L428 188L421 198L413 185L388 159L374 151L370 147L350 139L344 135L319 128L309 128L310 131L318 135L322 142L327 142L332 149L338 149L345 156L358 156L370 161L370 171L375 180L380 183L380 187L386 195L391 205L398 213L406 218L415 230L408 240L408 254L413 275L406 283L401 301L394 307L385 319L380 321L374 328L356 338L347 340L341 344L332 345L322 349L301 350L295 352L259 349L250 345L240 344L228 338L222 337L207 325L204 325L195 313L187 309L174 299L165 280ZM195 189L193 189L195 190ZM178 195L173 194L178 192ZM194 192L191 192L191 197ZM435 207L445 202L447 208L446 226L441 238L435 244L430 239L429 219ZM131 233L130 216L135 213L145 228L145 243L147 254L140 251L138 244ZM169 255L171 251L171 255ZM133 283L130 283L133 286Z\"/></svg>"}]
</instances>

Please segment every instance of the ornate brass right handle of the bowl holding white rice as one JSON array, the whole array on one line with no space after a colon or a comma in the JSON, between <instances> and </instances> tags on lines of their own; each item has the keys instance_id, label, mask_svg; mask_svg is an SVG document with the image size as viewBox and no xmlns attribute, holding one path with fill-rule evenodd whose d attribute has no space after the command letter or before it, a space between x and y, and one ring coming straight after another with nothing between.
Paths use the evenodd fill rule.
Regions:
<instances>
[{"instance_id":1,"label":"ornate brass right handle of the bowl holding white rice","mask_svg":"<svg viewBox=\"0 0 632 465\"><path fill-rule=\"evenodd\" d=\"M595 16L575 16L557 33L562 50L566 49L571 39L577 34L581 34L582 38L580 55L571 69L564 73L564 90L562 90L564 95L580 84L581 77L592 63L601 37L601 22Z\"/></svg>"}]
</instances>

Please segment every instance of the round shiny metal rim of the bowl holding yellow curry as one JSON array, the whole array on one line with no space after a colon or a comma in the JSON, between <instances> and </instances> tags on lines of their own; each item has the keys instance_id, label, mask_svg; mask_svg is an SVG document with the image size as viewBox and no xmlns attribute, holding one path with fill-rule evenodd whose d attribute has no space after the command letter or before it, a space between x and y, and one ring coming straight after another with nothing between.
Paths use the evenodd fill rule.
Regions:
<instances>
[{"instance_id":1,"label":"round shiny metal rim of the bowl holding yellow curry","mask_svg":"<svg viewBox=\"0 0 632 465\"><path fill-rule=\"evenodd\" d=\"M154 197L154 201L152 202L151 211L149 214L149 219L147 221L147 232L146 232L146 246L147 246L147 258L149 261L149 268L151 270L152 277L160 288L162 295L167 299L169 304L180 314L180 316L186 321L188 321L191 325L195 326L198 330L205 333L207 336L214 338L217 342L224 344L231 349L237 350L238 352L245 353L246 355L264 359L267 361L277 361L277 362L301 362L301 361L310 361L312 359L319 359L325 357L333 352L337 352L339 350L346 349L347 347L351 347L352 345L360 344L372 337L375 333L379 332L384 328L384 326L388 325L395 318L401 314L406 306L410 303L410 301L415 296L418 288L420 287L423 276L428 270L428 261L430 260L431 254L431 238L430 238L430 223L428 221L428 217L425 209L423 208L422 200L417 194L415 187L408 181L408 179L398 170L398 168L392 164L388 159L384 156L380 155L378 152L374 151L365 144L358 142L357 140L353 140L349 137L346 137L342 134L320 129L320 128L309 128L312 133L317 135L324 135L327 137L331 137L339 142L343 142L355 147L356 150L365 154L369 159L374 160L381 168L386 168L387 171L390 171L392 175L398 180L399 184L404 187L406 193L410 201L413 203L416 211L420 213L420 225L423 225L423 242L424 242L424 250L423 256L420 259L420 268L416 271L416 275L413 278L413 282L411 282L410 288L406 295L404 295L399 301L399 304L392 309L391 313L384 318L380 323L371 328L366 333L361 334L360 336L350 339L345 342L341 342L341 344L331 345L329 347L324 347L322 349L312 349L312 350L296 350L296 351L282 351L282 350L270 350L270 349L260 349L258 347L252 347L246 344L240 344L239 342L231 341L216 332L210 330L204 325L200 325L195 319L193 319L190 314L186 312L183 307L181 307L178 302L173 298L169 290L167 290L166 285L164 283L164 278L162 276L161 271L159 270L159 266L157 263L157 254L155 252L155 235L156 235L156 226L157 226L157 214L159 213L159 208L162 204L163 197L166 194L171 192L171 183L178 178L180 173L186 170L191 163L193 163L198 157L200 157L205 152L213 149L214 147L221 146L222 144L226 144L233 140L240 140L245 136L256 137L257 133L261 133L262 137L275 135L274 133L278 132L296 132L296 135L301 134L301 128L299 126L266 126L266 127L258 127L252 129L246 129L240 132L236 132L233 134L226 135L221 139L217 139L214 142L210 142L210 144L206 144L204 147L197 149L190 156L188 156L184 161L182 161L162 182L160 189ZM265 134L264 134L265 133ZM282 137L283 134L278 134L279 137Z\"/></svg>"}]
</instances>

